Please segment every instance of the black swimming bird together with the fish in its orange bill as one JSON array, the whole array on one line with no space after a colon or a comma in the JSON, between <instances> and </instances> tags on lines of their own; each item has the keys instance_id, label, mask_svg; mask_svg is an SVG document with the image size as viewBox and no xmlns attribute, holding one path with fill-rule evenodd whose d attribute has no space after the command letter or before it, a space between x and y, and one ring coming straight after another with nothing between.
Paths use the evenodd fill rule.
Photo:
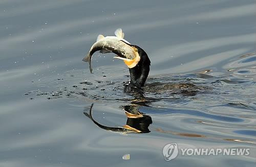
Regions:
<instances>
[{"instance_id":1,"label":"black swimming bird together with the fish in its orange bill","mask_svg":"<svg viewBox=\"0 0 256 167\"><path fill-rule=\"evenodd\" d=\"M145 90L148 92L156 92L161 90L170 89L184 89L191 91L197 91L198 87L191 83L152 83L145 84L145 81L150 72L151 61L148 58L146 52L137 45L132 45L128 41L124 40L124 34L121 29L116 30L116 37L104 37L99 35L97 42L93 44L89 54L83 59L83 61L88 61L91 67L91 57L96 51L100 53L115 53L118 58L124 61L124 63L129 67L130 70L130 85L133 88L140 90Z\"/></svg>"}]
</instances>

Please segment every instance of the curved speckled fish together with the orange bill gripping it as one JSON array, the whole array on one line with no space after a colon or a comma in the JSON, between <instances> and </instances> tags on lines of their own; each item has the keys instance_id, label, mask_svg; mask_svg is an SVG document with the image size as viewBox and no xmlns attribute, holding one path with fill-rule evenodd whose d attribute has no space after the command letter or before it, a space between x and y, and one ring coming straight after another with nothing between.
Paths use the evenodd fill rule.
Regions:
<instances>
[{"instance_id":1,"label":"curved speckled fish together with the orange bill gripping it","mask_svg":"<svg viewBox=\"0 0 256 167\"><path fill-rule=\"evenodd\" d=\"M97 41L92 45L89 53L82 61L89 62L90 72L92 73L91 59L95 52L100 51L101 54L104 53L114 53L117 56L114 58L121 59L125 64L131 67L135 66L139 61L140 57L138 54L138 49L132 45L130 42L123 39L124 33L122 29L117 29L115 31L116 36L106 36L98 35Z\"/></svg>"}]
</instances>

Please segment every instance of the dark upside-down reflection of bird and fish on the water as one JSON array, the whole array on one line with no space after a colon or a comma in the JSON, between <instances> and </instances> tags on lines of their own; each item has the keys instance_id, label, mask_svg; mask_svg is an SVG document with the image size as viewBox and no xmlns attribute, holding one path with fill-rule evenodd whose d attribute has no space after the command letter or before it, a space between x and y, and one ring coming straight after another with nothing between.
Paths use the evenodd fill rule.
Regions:
<instances>
[{"instance_id":1,"label":"dark upside-down reflection of bird and fish on the water","mask_svg":"<svg viewBox=\"0 0 256 167\"><path fill-rule=\"evenodd\" d=\"M126 125L123 127L107 127L104 125L99 124L93 119L92 116L92 109L93 104L91 105L89 114L87 112L83 112L84 115L88 116L94 124L98 127L112 131L112 132L119 132L119 133L149 133L150 130L148 126L152 124L152 118L148 115L143 114L139 111L139 105L127 105L122 107L125 111L125 115L127 116Z\"/></svg>"}]
</instances>

